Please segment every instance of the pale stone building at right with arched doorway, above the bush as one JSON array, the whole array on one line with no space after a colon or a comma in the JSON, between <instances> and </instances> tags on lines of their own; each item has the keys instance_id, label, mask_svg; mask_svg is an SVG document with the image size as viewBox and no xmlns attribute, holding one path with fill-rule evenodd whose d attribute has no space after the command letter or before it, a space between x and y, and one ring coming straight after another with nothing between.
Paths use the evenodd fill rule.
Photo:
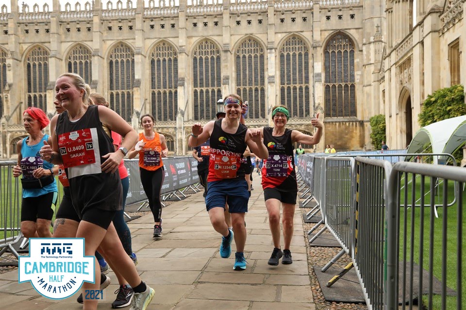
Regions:
<instances>
[{"instance_id":1,"label":"pale stone building at right with arched doorway, above the bush","mask_svg":"<svg viewBox=\"0 0 466 310\"><path fill-rule=\"evenodd\" d=\"M465 85L466 0L387 0L385 14L389 35L380 98L385 102L387 145L405 148L419 130L418 114L427 96ZM400 16L416 21L403 23Z\"/></svg>"}]
</instances>

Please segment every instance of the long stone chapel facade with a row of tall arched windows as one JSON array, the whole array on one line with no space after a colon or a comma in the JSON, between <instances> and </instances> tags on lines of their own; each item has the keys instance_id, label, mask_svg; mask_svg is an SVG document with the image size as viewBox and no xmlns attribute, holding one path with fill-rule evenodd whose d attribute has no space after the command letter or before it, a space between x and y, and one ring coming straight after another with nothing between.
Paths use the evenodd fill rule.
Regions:
<instances>
[{"instance_id":1,"label":"long stone chapel facade with a row of tall arched windows","mask_svg":"<svg viewBox=\"0 0 466 310\"><path fill-rule=\"evenodd\" d=\"M141 114L156 116L171 154L188 154L193 122L212 119L216 101L235 92L250 102L251 127L286 104L289 128L312 134L311 117L322 115L316 150L371 148L369 117L383 113L385 0L46 2L0 8L1 158L15 157L27 106L54 114L54 83L67 71L138 131Z\"/></svg>"}]
</instances>

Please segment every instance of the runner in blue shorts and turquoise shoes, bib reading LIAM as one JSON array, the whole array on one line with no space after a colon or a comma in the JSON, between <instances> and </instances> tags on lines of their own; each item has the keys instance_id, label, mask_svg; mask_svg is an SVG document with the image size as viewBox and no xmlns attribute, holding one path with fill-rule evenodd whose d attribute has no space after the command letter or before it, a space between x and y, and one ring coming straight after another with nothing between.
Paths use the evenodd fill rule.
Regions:
<instances>
[{"instance_id":1,"label":"runner in blue shorts and turquoise shoes, bib reading LIAM","mask_svg":"<svg viewBox=\"0 0 466 310\"><path fill-rule=\"evenodd\" d=\"M267 158L267 149L262 144L259 130L249 130L240 124L243 100L236 94L224 98L226 116L223 119L210 121L202 127L195 123L189 137L190 147L200 146L210 138L209 175L207 177L206 207L214 229L220 233L222 245L220 256L231 255L233 231L225 224L224 207L228 202L232 216L234 241L236 244L234 270L246 269L244 245L246 228L244 215L247 212L249 194L244 179L243 152L250 147L257 156Z\"/></svg>"}]
</instances>

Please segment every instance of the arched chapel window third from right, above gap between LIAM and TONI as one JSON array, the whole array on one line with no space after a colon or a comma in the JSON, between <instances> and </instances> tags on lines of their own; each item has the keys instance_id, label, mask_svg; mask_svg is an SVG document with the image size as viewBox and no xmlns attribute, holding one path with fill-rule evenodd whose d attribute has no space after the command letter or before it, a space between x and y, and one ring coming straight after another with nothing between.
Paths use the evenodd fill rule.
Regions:
<instances>
[{"instance_id":1,"label":"arched chapel window third from right, above gap between LIAM and TONI","mask_svg":"<svg viewBox=\"0 0 466 310\"><path fill-rule=\"evenodd\" d=\"M244 40L234 53L236 94L249 101L246 117L266 118L264 49L256 40Z\"/></svg>"}]
</instances>

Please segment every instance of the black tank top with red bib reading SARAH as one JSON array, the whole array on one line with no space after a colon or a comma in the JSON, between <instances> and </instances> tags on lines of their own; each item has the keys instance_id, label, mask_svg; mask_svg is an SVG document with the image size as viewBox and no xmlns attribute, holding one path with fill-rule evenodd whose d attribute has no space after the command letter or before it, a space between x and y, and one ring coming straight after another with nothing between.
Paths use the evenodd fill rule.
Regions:
<instances>
[{"instance_id":1,"label":"black tank top with red bib reading SARAH","mask_svg":"<svg viewBox=\"0 0 466 310\"><path fill-rule=\"evenodd\" d=\"M98 106L71 122L67 111L58 116L55 129L58 147L69 180L73 205L81 217L86 208L121 210L122 188L118 170L102 172L103 155L115 152L112 138L103 130Z\"/></svg>"}]
</instances>

